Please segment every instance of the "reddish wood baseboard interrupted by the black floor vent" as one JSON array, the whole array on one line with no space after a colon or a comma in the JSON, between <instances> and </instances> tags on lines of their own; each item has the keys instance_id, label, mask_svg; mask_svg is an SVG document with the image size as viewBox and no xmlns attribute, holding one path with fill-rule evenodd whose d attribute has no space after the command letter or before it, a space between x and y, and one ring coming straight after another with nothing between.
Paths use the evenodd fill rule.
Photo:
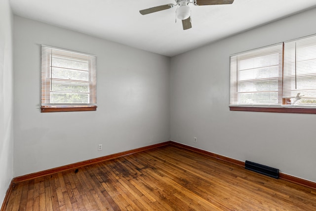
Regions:
<instances>
[{"instance_id":1,"label":"reddish wood baseboard interrupted by the black floor vent","mask_svg":"<svg viewBox=\"0 0 316 211\"><path fill-rule=\"evenodd\" d=\"M178 147L181 147L181 148L185 148L185 149L188 149L188 150L200 153L200 154L204 154L204 155L216 158L216 159L221 160L221 161L226 161L226 162L231 163L231 164L236 164L237 166L241 166L241 167L245 166L245 162L238 161L238 160L235 160L233 158L229 158L229 157L225 157L225 156L222 156L222 155L218 155L216 153L212 153L212 152L208 152L208 151L205 151L205 150L197 149L195 147L188 146L188 145L181 144L181 143L177 143L177 142L174 142L174 141L171 141L171 144L174 145L174 146L178 146ZM309 180L306 180L306 179L302 179L302 178L298 178L298 177L295 177L295 176L291 176L291 175L286 174L286 173L279 172L279 178L283 179L283 180L286 180L286 181L289 181L289 182L293 182L293 183L299 184L299 185L303 185L303 186L306 186L306 187L309 187L309 188L316 189L316 182L312 182L312 181L309 181Z\"/></svg>"}]
</instances>

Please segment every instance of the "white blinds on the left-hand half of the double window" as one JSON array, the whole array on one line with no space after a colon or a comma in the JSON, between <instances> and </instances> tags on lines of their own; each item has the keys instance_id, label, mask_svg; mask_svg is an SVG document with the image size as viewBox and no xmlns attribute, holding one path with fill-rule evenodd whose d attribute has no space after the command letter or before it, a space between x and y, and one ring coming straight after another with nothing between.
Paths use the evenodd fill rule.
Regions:
<instances>
[{"instance_id":1,"label":"white blinds on the left-hand half of the double window","mask_svg":"<svg viewBox=\"0 0 316 211\"><path fill-rule=\"evenodd\" d=\"M282 104L282 43L230 57L230 105Z\"/></svg>"}]
</instances>

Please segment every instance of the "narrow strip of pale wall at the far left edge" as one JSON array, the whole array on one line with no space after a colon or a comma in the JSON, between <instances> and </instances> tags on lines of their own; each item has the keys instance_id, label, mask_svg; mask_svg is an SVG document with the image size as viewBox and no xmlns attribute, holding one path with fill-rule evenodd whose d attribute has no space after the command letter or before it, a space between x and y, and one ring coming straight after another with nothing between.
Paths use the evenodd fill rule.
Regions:
<instances>
[{"instance_id":1,"label":"narrow strip of pale wall at the far left edge","mask_svg":"<svg viewBox=\"0 0 316 211\"><path fill-rule=\"evenodd\" d=\"M13 177L13 16L0 1L0 207Z\"/></svg>"}]
</instances>

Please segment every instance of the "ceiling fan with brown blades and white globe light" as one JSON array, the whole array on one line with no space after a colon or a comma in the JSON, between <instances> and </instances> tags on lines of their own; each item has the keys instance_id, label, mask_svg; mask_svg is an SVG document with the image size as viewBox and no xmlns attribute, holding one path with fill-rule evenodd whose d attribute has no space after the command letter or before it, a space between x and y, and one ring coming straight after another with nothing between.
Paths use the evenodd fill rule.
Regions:
<instances>
[{"instance_id":1,"label":"ceiling fan with brown blades and white globe light","mask_svg":"<svg viewBox=\"0 0 316 211\"><path fill-rule=\"evenodd\" d=\"M147 15L153 12L158 12L165 9L170 9L174 6L178 6L176 10L177 18L182 20L183 30L192 28L191 24L191 9L189 3L193 3L196 6L202 5L215 5L215 4L232 4L234 0L175 0L176 3L169 3L160 6L151 7L148 9L139 10L142 15Z\"/></svg>"}]
</instances>

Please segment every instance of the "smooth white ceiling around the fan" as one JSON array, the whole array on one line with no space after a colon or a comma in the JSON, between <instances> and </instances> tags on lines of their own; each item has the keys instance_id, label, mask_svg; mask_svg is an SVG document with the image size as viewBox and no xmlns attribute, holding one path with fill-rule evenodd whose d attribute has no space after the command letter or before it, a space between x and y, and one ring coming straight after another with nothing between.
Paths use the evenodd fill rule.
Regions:
<instances>
[{"instance_id":1,"label":"smooth white ceiling around the fan","mask_svg":"<svg viewBox=\"0 0 316 211\"><path fill-rule=\"evenodd\" d=\"M235 0L194 6L192 28L175 23L176 7L139 10L175 0L10 0L14 14L132 47L174 56L316 6L316 0Z\"/></svg>"}]
</instances>

